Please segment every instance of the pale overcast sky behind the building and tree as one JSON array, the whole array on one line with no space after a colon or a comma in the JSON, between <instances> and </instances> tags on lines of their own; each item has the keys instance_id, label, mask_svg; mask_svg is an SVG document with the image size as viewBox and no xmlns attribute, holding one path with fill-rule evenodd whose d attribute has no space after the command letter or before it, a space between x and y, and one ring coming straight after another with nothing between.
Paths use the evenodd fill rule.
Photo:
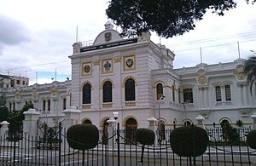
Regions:
<instances>
[{"instance_id":1,"label":"pale overcast sky behind the building and tree","mask_svg":"<svg viewBox=\"0 0 256 166\"><path fill-rule=\"evenodd\" d=\"M204 20L197 22L195 30L183 36L160 40L153 33L151 39L174 51L175 68L199 64L200 47L204 63L236 60L237 41L241 58L247 58L251 54L249 50L256 49L256 5L239 2L238 9L226 12L223 17L208 12ZM37 71L55 72L56 69L60 74L70 74L68 55L72 54L76 26L79 26L79 41L94 40L108 21L107 3L108 0L3 1L0 73L30 77L31 83L35 83ZM50 82L50 77L38 78L38 83Z\"/></svg>"}]
</instances>

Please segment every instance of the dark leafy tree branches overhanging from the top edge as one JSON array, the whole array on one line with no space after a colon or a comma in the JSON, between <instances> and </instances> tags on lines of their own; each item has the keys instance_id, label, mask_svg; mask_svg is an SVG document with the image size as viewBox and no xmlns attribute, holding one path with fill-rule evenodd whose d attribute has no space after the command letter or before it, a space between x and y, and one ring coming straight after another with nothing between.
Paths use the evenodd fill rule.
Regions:
<instances>
[{"instance_id":1,"label":"dark leafy tree branches overhanging from the top edge","mask_svg":"<svg viewBox=\"0 0 256 166\"><path fill-rule=\"evenodd\" d=\"M254 3L256 0L246 0ZM173 37L195 28L207 10L224 15L236 8L236 0L111 0L106 13L124 36L156 31L161 37Z\"/></svg>"}]
</instances>

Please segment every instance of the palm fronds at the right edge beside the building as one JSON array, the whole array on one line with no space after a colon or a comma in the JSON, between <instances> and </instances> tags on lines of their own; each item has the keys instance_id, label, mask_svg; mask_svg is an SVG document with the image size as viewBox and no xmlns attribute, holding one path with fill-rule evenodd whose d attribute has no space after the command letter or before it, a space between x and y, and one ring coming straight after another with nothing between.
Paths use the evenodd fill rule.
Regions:
<instances>
[{"instance_id":1,"label":"palm fronds at the right edge beside the building","mask_svg":"<svg viewBox=\"0 0 256 166\"><path fill-rule=\"evenodd\" d=\"M256 79L256 56L252 55L246 60L244 65L244 72L247 74L247 82L250 83L250 89L252 93L253 83Z\"/></svg>"}]
</instances>

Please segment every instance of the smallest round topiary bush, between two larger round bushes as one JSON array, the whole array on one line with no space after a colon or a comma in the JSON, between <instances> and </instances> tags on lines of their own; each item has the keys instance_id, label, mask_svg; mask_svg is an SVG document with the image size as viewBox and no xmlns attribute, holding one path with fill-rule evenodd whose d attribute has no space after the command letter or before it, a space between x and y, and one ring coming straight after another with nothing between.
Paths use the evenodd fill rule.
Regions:
<instances>
[{"instance_id":1,"label":"smallest round topiary bush, between two larger round bushes","mask_svg":"<svg viewBox=\"0 0 256 166\"><path fill-rule=\"evenodd\" d=\"M154 144L154 131L150 129L137 129L135 132L135 140L143 145Z\"/></svg>"}]
</instances>

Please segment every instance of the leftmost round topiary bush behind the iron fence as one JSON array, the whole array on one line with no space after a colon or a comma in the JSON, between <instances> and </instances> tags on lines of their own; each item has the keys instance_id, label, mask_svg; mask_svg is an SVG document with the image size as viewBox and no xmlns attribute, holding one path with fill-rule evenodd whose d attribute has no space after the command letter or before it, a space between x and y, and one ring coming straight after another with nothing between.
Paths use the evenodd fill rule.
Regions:
<instances>
[{"instance_id":1,"label":"leftmost round topiary bush behind the iron fence","mask_svg":"<svg viewBox=\"0 0 256 166\"><path fill-rule=\"evenodd\" d=\"M76 124L67 129L67 142L73 149L87 150L98 145L99 130L92 124Z\"/></svg>"}]
</instances>

